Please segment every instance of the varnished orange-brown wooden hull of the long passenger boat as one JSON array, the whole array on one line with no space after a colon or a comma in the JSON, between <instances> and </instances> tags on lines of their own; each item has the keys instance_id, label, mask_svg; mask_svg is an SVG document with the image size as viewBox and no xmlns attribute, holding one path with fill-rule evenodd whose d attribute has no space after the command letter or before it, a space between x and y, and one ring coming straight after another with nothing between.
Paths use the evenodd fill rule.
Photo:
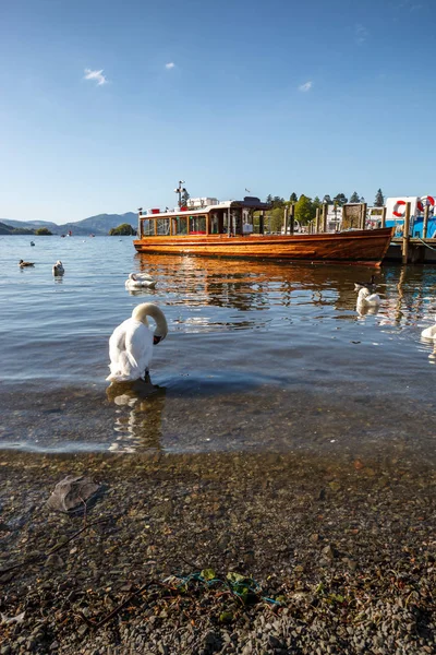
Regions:
<instances>
[{"instance_id":1,"label":"varnished orange-brown wooden hull of the long passenger boat","mask_svg":"<svg viewBox=\"0 0 436 655\"><path fill-rule=\"evenodd\" d=\"M316 235L227 235L143 237L133 241L138 252L265 260L343 262L379 265L392 229L323 233Z\"/></svg>"}]
</instances>

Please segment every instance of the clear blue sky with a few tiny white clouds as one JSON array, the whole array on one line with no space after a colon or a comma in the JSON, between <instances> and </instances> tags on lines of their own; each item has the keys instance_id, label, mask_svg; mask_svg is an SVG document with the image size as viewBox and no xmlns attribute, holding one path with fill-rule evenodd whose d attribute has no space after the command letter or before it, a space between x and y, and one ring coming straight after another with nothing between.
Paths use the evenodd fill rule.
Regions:
<instances>
[{"instance_id":1,"label":"clear blue sky with a few tiny white clouds","mask_svg":"<svg viewBox=\"0 0 436 655\"><path fill-rule=\"evenodd\" d=\"M221 200L436 193L434 9L3 0L0 217L173 206L179 179Z\"/></svg>"}]
</instances>

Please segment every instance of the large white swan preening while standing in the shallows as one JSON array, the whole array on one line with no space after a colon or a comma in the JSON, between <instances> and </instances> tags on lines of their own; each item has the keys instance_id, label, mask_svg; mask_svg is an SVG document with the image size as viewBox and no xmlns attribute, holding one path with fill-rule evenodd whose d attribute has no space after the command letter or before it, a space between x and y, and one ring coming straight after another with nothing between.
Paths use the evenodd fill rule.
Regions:
<instances>
[{"instance_id":1,"label":"large white swan preening while standing in the shallows","mask_svg":"<svg viewBox=\"0 0 436 655\"><path fill-rule=\"evenodd\" d=\"M153 332L148 319L156 323ZM153 346L168 334L167 319L162 310L153 302L137 305L130 319L114 329L109 338L109 382L135 382L146 380L153 357Z\"/></svg>"}]
</instances>

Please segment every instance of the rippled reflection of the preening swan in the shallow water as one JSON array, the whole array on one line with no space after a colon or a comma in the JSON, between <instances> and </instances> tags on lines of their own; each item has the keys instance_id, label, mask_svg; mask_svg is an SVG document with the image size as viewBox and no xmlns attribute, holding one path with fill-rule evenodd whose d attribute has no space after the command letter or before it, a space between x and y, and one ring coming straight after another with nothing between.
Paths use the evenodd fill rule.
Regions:
<instances>
[{"instance_id":1,"label":"rippled reflection of the preening swan in the shallow water","mask_svg":"<svg viewBox=\"0 0 436 655\"><path fill-rule=\"evenodd\" d=\"M113 424L116 437L108 450L124 453L161 450L166 391L165 386L153 384L149 377L146 382L116 382L107 388L109 402L119 407Z\"/></svg>"}]
</instances>

